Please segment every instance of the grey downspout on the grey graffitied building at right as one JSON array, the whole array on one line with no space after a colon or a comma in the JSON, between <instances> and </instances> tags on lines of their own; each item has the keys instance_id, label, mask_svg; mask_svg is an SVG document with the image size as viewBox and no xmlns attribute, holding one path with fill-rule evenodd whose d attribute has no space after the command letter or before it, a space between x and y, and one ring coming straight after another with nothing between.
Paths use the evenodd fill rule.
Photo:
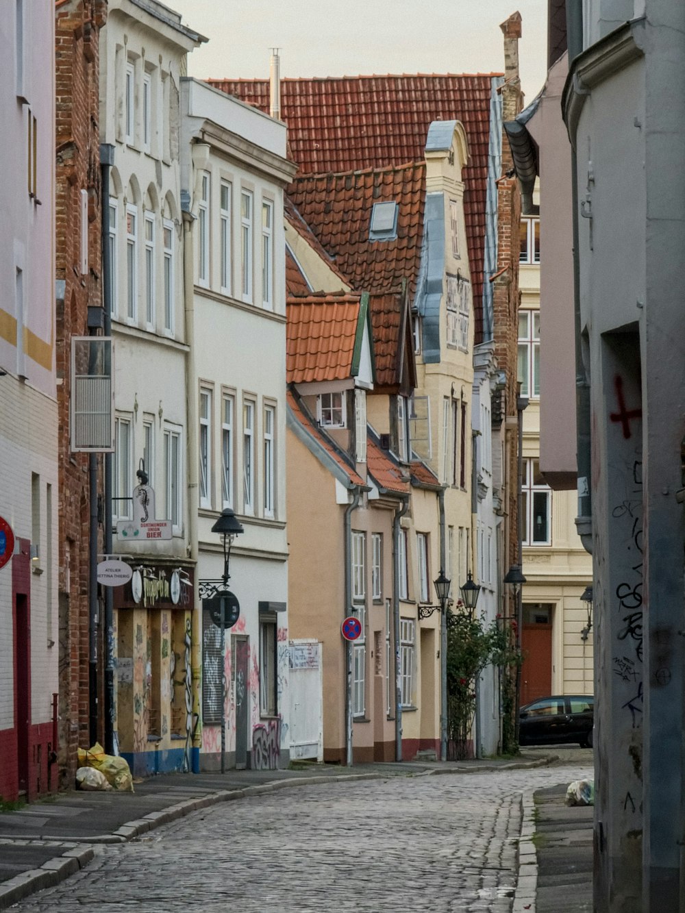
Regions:
<instances>
[{"instance_id":1,"label":"grey downspout on the grey graffitied building at right","mask_svg":"<svg viewBox=\"0 0 685 913\"><path fill-rule=\"evenodd\" d=\"M582 0L566 0L568 64L583 50ZM592 554L592 464L590 454L590 384L583 362L580 315L580 258L578 257L578 174L577 156L571 143L571 184L574 231L574 329L575 329L575 435L578 463L578 516L575 527L585 551Z\"/></svg>"}]
</instances>

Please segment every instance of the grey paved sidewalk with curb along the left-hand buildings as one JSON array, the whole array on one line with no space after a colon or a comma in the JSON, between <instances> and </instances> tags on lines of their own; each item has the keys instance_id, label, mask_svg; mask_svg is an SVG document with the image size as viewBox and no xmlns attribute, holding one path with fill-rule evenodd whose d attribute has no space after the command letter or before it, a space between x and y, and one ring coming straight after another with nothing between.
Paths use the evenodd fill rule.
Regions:
<instances>
[{"instance_id":1,"label":"grey paved sidewalk with curb along the left-hand buildings","mask_svg":"<svg viewBox=\"0 0 685 913\"><path fill-rule=\"evenodd\" d=\"M136 792L61 792L0 813L0 910L87 866L94 844L121 843L206 805L274 792L321 778L350 781L541 767L556 760L522 751L516 761L404 761L353 768L311 765L297 771L163 774ZM577 909L577 908L576 908Z\"/></svg>"}]
</instances>

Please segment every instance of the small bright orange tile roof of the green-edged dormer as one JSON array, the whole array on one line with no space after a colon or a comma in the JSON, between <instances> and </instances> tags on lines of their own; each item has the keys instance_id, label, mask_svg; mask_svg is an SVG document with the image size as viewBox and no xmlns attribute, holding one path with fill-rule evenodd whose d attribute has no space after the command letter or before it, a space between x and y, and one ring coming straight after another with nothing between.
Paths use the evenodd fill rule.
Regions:
<instances>
[{"instance_id":1,"label":"small bright orange tile roof of the green-edged dormer","mask_svg":"<svg viewBox=\"0 0 685 913\"><path fill-rule=\"evenodd\" d=\"M309 294L288 299L288 383L352 377L360 295Z\"/></svg>"}]
</instances>

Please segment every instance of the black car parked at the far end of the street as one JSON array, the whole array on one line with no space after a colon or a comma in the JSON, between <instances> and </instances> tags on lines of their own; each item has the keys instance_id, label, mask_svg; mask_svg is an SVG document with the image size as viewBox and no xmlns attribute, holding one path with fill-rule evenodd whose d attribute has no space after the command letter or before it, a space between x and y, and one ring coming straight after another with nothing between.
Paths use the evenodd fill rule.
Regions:
<instances>
[{"instance_id":1,"label":"black car parked at the far end of the street","mask_svg":"<svg viewBox=\"0 0 685 913\"><path fill-rule=\"evenodd\" d=\"M521 708L519 722L521 745L577 741L581 748L592 747L595 698L588 694L538 698Z\"/></svg>"}]
</instances>

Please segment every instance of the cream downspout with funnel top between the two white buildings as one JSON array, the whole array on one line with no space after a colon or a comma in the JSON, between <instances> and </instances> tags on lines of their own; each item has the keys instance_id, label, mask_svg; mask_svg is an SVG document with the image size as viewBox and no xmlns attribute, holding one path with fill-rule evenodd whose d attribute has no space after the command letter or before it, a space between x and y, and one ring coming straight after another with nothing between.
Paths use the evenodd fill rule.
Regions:
<instances>
[{"instance_id":1,"label":"cream downspout with funnel top between the two white buildings","mask_svg":"<svg viewBox=\"0 0 685 913\"><path fill-rule=\"evenodd\" d=\"M202 726L200 720L202 689L202 611L200 607L199 580L197 570L197 479L199 477L198 454L198 404L195 389L195 257L193 249L193 223L197 212L199 182L209 158L209 146L196 143L192 147L195 187L190 199L181 201L184 232L184 334L188 351L185 356L185 408L187 414L187 466L188 466L188 546L191 561L195 562L195 588L191 609L191 676L193 678L193 717L197 720L193 733L193 773L200 772L200 749L202 747Z\"/></svg>"}]
</instances>

